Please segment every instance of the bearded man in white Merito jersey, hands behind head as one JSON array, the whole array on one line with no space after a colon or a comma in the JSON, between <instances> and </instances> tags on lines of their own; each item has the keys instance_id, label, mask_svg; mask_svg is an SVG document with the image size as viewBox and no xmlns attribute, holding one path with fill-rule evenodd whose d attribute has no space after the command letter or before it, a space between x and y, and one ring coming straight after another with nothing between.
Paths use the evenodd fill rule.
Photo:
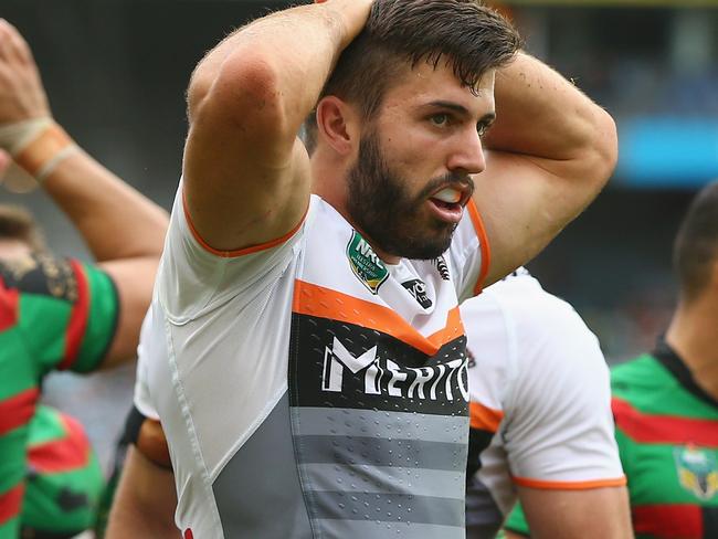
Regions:
<instances>
[{"instance_id":1,"label":"bearded man in white Merito jersey, hands behind head","mask_svg":"<svg viewBox=\"0 0 718 539\"><path fill-rule=\"evenodd\" d=\"M616 157L605 112L518 46L476 1L330 0L200 62L137 395L184 537L464 536L458 298Z\"/></svg>"}]
</instances>

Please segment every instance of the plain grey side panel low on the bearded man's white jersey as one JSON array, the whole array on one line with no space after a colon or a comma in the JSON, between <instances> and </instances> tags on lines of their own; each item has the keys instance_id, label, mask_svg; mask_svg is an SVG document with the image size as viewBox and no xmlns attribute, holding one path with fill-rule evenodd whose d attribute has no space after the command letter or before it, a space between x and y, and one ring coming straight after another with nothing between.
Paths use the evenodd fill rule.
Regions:
<instances>
[{"instance_id":1,"label":"plain grey side panel low on the bearded man's white jersey","mask_svg":"<svg viewBox=\"0 0 718 539\"><path fill-rule=\"evenodd\" d=\"M228 539L312 538L286 393L224 466L212 488Z\"/></svg>"}]
</instances>

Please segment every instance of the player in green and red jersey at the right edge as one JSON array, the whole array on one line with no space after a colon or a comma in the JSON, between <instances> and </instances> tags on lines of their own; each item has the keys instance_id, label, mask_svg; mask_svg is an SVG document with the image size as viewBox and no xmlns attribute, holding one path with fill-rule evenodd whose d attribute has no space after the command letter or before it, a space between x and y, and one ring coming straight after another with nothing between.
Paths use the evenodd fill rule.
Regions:
<instances>
[{"instance_id":1,"label":"player in green and red jersey at the right edge","mask_svg":"<svg viewBox=\"0 0 718 539\"><path fill-rule=\"evenodd\" d=\"M615 437L636 537L709 539L718 537L718 182L688 209L673 262L679 297L668 330L651 353L611 370ZM529 522L534 531L527 516L510 514L507 537L528 537Z\"/></svg>"}]
</instances>

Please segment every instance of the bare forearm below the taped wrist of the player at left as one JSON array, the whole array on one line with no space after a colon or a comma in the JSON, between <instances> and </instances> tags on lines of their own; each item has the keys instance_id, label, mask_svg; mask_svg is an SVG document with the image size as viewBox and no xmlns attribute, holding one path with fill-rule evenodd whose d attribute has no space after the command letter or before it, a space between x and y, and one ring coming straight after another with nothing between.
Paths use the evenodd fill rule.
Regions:
<instances>
[{"instance_id":1,"label":"bare forearm below the taped wrist of the player at left","mask_svg":"<svg viewBox=\"0 0 718 539\"><path fill-rule=\"evenodd\" d=\"M62 160L43 187L98 262L161 254L168 225L165 210L82 149Z\"/></svg>"}]
</instances>

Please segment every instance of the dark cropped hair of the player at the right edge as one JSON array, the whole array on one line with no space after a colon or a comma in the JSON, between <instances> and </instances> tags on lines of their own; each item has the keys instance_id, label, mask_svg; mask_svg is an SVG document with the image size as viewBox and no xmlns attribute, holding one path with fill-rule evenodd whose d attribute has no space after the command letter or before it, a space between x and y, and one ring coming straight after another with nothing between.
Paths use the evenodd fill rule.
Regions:
<instances>
[{"instance_id":1,"label":"dark cropped hair of the player at the right edge","mask_svg":"<svg viewBox=\"0 0 718 539\"><path fill-rule=\"evenodd\" d=\"M705 289L717 260L718 181L714 181L690 203L674 243L673 264L684 300L696 299Z\"/></svg>"}]
</instances>

